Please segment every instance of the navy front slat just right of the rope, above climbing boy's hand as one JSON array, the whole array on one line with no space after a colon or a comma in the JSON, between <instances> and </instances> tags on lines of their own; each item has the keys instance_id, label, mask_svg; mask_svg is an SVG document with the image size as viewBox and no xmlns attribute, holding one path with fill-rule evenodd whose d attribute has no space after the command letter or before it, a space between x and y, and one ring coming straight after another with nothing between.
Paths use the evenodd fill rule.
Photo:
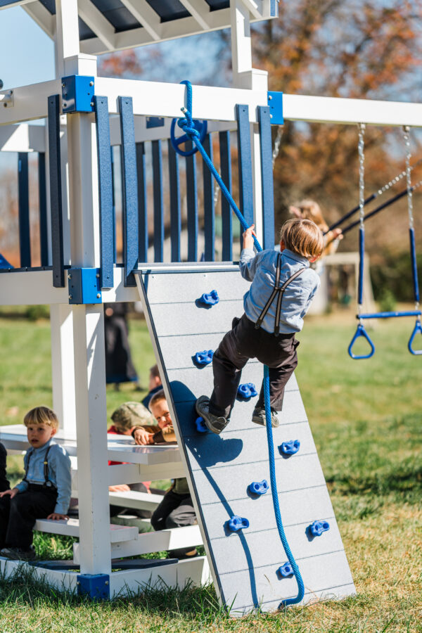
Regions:
<instances>
[{"instance_id":1,"label":"navy front slat just right of the rope, above climbing boy's hand","mask_svg":"<svg viewBox=\"0 0 422 633\"><path fill-rule=\"evenodd\" d=\"M248 226L253 222L252 155L248 106L236 106L241 212ZM242 241L242 236L241 236Z\"/></svg>"}]
</instances>

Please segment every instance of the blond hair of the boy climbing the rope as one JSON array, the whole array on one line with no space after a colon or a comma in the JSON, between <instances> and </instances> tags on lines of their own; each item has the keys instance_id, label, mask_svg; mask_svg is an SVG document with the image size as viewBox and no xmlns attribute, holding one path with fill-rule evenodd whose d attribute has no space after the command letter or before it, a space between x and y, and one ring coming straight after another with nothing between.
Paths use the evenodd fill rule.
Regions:
<instances>
[{"instance_id":1,"label":"blond hair of the boy climbing the rope","mask_svg":"<svg viewBox=\"0 0 422 633\"><path fill-rule=\"evenodd\" d=\"M280 241L288 250L302 257L319 257L324 250L324 238L315 222L293 217L281 226Z\"/></svg>"}]
</instances>

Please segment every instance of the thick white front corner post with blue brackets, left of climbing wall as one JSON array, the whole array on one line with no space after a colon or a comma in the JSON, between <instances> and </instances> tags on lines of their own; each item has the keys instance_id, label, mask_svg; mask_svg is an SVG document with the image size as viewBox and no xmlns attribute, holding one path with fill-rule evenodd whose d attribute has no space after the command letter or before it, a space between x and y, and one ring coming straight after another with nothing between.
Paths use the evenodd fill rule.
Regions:
<instances>
[{"instance_id":1,"label":"thick white front corner post with blue brackets, left of climbing wall","mask_svg":"<svg viewBox=\"0 0 422 633\"><path fill-rule=\"evenodd\" d=\"M60 76L75 74L82 65L84 70L95 70L95 58L79 54L77 0L57 0L56 11L58 73ZM67 136L72 267L98 267L98 172L93 117L88 113L68 115ZM108 574L111 549L103 305L75 305L71 311L77 468L78 480L82 483L78 490L81 573Z\"/></svg>"}]
</instances>

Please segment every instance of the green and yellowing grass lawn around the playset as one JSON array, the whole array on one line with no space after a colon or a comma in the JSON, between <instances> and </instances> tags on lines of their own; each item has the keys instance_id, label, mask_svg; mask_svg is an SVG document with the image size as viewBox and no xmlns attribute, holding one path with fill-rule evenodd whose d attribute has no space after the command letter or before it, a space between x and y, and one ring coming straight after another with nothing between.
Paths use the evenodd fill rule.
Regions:
<instances>
[{"instance_id":1,"label":"green and yellowing grass lawn around the playset","mask_svg":"<svg viewBox=\"0 0 422 633\"><path fill-rule=\"evenodd\" d=\"M347 356L351 315L308 317L300 334L297 377L357 596L232 620L212 587L155 588L93 604L28 578L0 579L1 631L422 632L422 358L407 351L413 325L376 324L376 354L366 361ZM51 405L49 336L48 321L0 319L1 423L21 423L35 404ZM142 321L131 322L130 337L146 385L154 358ZM131 385L108 388L108 414L142 396ZM21 469L22 459L11 457L14 478ZM43 558L70 556L68 539L36 535L35 544Z\"/></svg>"}]
</instances>

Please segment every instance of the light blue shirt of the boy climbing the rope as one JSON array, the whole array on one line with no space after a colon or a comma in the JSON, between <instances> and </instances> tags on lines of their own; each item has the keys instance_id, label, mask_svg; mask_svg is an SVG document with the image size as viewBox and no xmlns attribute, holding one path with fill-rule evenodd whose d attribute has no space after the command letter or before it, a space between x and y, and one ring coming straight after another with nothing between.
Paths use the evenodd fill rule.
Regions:
<instances>
[{"instance_id":1,"label":"light blue shirt of the boy climbing the rope","mask_svg":"<svg viewBox=\"0 0 422 633\"><path fill-rule=\"evenodd\" d=\"M250 321L256 323L262 309L269 300L276 283L276 269L279 251L262 250L255 253L252 248L244 248L241 252L239 268L247 281L252 281L250 290L243 297L245 314ZM311 305L319 288L319 276L306 257L285 248L281 253L280 286L300 268L306 270L287 286L281 303L280 333L293 334L303 327L303 317ZM262 328L274 333L277 298L274 298L262 321Z\"/></svg>"}]
</instances>

